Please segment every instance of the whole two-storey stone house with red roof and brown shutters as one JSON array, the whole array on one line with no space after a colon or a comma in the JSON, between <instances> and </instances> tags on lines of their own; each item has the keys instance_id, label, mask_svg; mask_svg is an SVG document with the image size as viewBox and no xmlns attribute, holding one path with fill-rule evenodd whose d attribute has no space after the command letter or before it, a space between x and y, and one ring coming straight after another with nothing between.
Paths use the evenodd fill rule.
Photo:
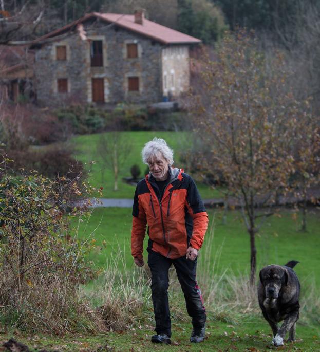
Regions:
<instances>
[{"instance_id":1,"label":"whole two-storey stone house with red roof and brown shutters","mask_svg":"<svg viewBox=\"0 0 320 352\"><path fill-rule=\"evenodd\" d=\"M189 49L199 43L147 20L143 10L87 14L31 46L37 101L149 103L179 96L189 88Z\"/></svg>"}]
</instances>

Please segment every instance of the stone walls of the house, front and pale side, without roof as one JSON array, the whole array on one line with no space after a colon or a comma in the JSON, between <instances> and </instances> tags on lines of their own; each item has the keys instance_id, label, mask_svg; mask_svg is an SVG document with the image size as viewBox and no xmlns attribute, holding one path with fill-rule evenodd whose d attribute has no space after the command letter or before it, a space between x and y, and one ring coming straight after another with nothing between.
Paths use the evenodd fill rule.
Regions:
<instances>
[{"instance_id":1,"label":"stone walls of the house, front and pale side, without roof","mask_svg":"<svg viewBox=\"0 0 320 352\"><path fill-rule=\"evenodd\" d=\"M73 34L36 50L35 89L41 105L63 101L67 104L72 98L91 103L95 100L92 90L97 89L93 88L93 79L100 79L103 101L112 104L162 101L164 96L177 96L189 87L187 45L165 46L106 23L100 23L95 29L88 26L90 24L84 24L89 40L83 41L78 34ZM103 64L100 67L91 66L91 41L102 41ZM128 44L137 44L136 58L128 58ZM66 47L65 60L57 60L59 46ZM129 89L130 78L138 84L136 90ZM62 83L64 91L59 92Z\"/></svg>"}]
</instances>

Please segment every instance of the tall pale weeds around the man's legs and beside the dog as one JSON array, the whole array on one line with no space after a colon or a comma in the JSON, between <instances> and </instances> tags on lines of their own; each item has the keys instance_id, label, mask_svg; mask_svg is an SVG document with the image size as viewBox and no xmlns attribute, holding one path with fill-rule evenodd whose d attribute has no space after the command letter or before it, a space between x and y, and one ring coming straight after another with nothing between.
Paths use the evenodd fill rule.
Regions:
<instances>
[{"instance_id":1,"label":"tall pale weeds around the man's legs and beside the dog","mask_svg":"<svg viewBox=\"0 0 320 352\"><path fill-rule=\"evenodd\" d=\"M204 305L211 320L237 325L246 316L261 317L257 292L250 285L249 275L236 274L229 268L221 273L219 263L222 246L212 251L214 245L214 226L211 226L200 251L197 269ZM104 281L97 282L93 290L95 294L91 294L91 298L94 297L96 302L99 304L103 302L98 311L110 330L124 330L137 322L154 321L149 269L145 266L141 269L135 267L133 271L128 269L120 271L119 267L127 267L124 257L120 247L114 250L106 266ZM169 277L168 293L172 321L190 321L173 268L169 271ZM302 286L299 322L316 325L319 323L317 312L320 308L320 299L315 281L309 278Z\"/></svg>"}]
</instances>

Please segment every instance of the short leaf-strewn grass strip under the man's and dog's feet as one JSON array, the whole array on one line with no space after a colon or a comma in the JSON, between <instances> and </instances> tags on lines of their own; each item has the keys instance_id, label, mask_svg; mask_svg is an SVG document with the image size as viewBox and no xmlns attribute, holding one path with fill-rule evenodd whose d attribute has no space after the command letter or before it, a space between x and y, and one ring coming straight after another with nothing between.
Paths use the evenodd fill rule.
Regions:
<instances>
[{"instance_id":1,"label":"short leaf-strewn grass strip under the man's and dog's feet","mask_svg":"<svg viewBox=\"0 0 320 352\"><path fill-rule=\"evenodd\" d=\"M50 351L64 352L82 351L114 351L114 352L267 352L267 351L320 351L319 331L314 327L297 324L295 343L285 344L283 347L271 346L271 329L262 318L250 316L243 319L238 325L217 322L208 317L206 339L200 344L189 342L191 323L173 323L172 345L155 345L150 342L154 334L153 326L148 324L136 326L126 331L110 332L106 335L72 335L64 337L53 336L28 336L16 333L0 334L1 341L14 337L29 347L46 348ZM32 348L32 351L34 349ZM99 349L100 348L100 349Z\"/></svg>"}]
</instances>

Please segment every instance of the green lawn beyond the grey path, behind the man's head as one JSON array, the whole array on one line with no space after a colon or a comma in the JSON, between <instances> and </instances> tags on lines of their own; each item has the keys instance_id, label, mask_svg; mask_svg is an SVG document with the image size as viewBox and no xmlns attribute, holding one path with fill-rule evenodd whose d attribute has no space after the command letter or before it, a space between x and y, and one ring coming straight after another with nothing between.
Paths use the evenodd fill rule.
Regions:
<instances>
[{"instance_id":1,"label":"green lawn beyond the grey path, behind the man's head","mask_svg":"<svg viewBox=\"0 0 320 352\"><path fill-rule=\"evenodd\" d=\"M106 132L106 135L112 132ZM97 154L97 142L100 134L82 135L72 139L76 147L76 157L86 164L86 170L90 170L90 182L95 187L103 187L103 196L106 198L133 198L135 187L122 181L122 177L130 177L130 168L137 164L140 166L141 178L144 176L146 165L141 161L141 150L144 144L152 140L154 137L163 138L168 145L174 150L175 165L179 168L184 168L184 165L179 162L179 151L183 150L183 146L187 145L187 132L154 132L154 131L138 131L138 132L122 132L125 139L131 145L131 152L126 160L125 165L120 171L119 190L114 191L113 175L110 170L105 170L104 178L102 178L103 164ZM94 161L95 164L91 164ZM188 172L185 170L185 172ZM198 184L199 192L204 199L220 197L218 191L204 184Z\"/></svg>"}]
</instances>

